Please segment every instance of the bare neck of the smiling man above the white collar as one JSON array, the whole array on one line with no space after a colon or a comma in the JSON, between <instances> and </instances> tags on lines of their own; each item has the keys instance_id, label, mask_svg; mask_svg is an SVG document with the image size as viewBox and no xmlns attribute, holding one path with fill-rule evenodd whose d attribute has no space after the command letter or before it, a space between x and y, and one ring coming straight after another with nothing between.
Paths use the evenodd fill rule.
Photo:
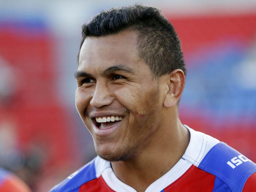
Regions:
<instances>
[{"instance_id":1,"label":"bare neck of the smiling man above the white collar","mask_svg":"<svg viewBox=\"0 0 256 192\"><path fill-rule=\"evenodd\" d=\"M173 168L185 153L190 135L178 120L166 130L156 133L155 138L131 159L111 162L117 178L137 192L144 192L151 183Z\"/></svg>"}]
</instances>

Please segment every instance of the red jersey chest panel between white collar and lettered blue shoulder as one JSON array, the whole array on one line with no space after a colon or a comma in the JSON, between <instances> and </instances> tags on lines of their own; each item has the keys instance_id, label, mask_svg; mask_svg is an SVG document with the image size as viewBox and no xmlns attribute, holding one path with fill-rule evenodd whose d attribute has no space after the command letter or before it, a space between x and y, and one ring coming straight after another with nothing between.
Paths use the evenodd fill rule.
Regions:
<instances>
[{"instance_id":1,"label":"red jersey chest panel between white collar and lettered blue shoulder","mask_svg":"<svg viewBox=\"0 0 256 192\"><path fill-rule=\"evenodd\" d=\"M211 192L215 176L192 165L180 178L167 186L164 192Z\"/></svg>"}]
</instances>

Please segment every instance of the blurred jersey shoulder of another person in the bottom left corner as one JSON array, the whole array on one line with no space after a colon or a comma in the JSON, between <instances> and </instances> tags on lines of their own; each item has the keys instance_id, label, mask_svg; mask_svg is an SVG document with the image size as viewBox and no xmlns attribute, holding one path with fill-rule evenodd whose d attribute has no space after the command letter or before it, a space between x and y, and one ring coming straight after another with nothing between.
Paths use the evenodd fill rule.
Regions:
<instances>
[{"instance_id":1,"label":"blurred jersey shoulder of another person in the bottom left corner","mask_svg":"<svg viewBox=\"0 0 256 192\"><path fill-rule=\"evenodd\" d=\"M28 186L15 175L0 168L0 192L31 192Z\"/></svg>"}]
</instances>

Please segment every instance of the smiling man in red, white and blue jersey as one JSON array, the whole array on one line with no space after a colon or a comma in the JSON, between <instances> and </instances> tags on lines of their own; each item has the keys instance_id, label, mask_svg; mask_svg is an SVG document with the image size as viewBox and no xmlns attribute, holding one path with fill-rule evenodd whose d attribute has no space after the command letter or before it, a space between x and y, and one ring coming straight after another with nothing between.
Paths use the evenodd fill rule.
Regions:
<instances>
[{"instance_id":1,"label":"smiling man in red, white and blue jersey","mask_svg":"<svg viewBox=\"0 0 256 192\"><path fill-rule=\"evenodd\" d=\"M82 31L76 107L98 157L52 192L256 190L256 164L181 124L186 68L158 9L102 11Z\"/></svg>"}]
</instances>

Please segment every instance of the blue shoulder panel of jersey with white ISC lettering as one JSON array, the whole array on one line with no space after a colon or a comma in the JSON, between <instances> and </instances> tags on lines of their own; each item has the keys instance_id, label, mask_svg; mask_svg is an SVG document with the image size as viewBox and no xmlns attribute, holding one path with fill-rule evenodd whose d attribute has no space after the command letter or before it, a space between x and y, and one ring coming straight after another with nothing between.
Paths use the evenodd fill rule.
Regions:
<instances>
[{"instance_id":1,"label":"blue shoulder panel of jersey with white ISC lettering","mask_svg":"<svg viewBox=\"0 0 256 192\"><path fill-rule=\"evenodd\" d=\"M256 172L256 164L249 161L227 144L220 142L213 146L199 164L198 168L215 175L214 188L221 188L223 181L231 191L242 191L246 180L250 175ZM219 190L218 190L219 191ZM224 190L223 186L223 192Z\"/></svg>"}]
</instances>

